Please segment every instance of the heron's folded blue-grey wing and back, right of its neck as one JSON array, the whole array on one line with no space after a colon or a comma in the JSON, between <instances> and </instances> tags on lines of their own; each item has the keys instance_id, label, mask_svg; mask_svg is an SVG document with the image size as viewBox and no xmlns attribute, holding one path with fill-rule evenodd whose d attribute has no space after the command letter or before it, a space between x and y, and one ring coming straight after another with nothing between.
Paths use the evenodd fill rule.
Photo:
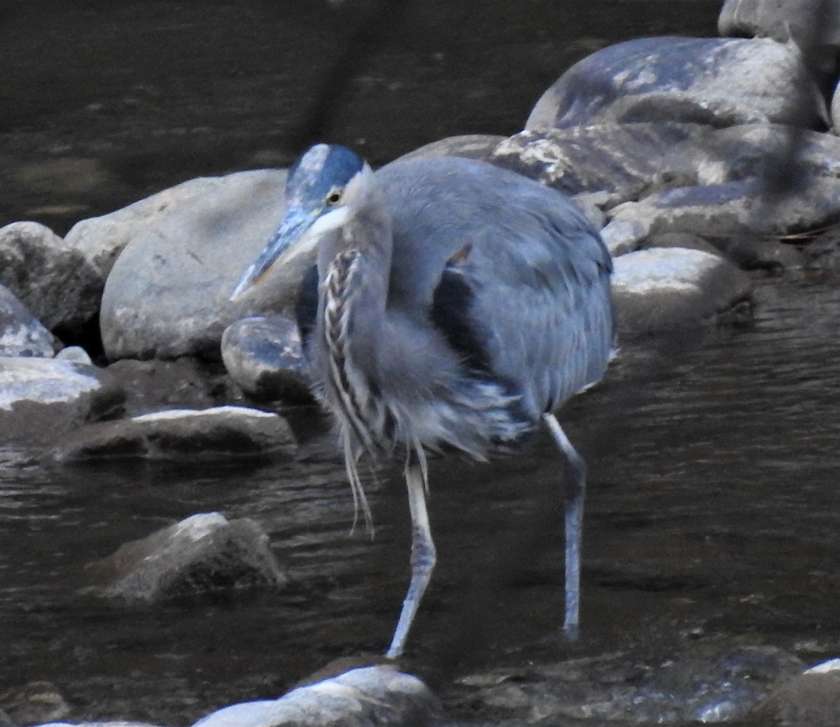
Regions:
<instances>
[{"instance_id":1,"label":"heron's folded blue-grey wing and back, right of its neck","mask_svg":"<svg viewBox=\"0 0 840 727\"><path fill-rule=\"evenodd\" d=\"M377 176L394 214L389 306L431 315L452 343L455 332L474 352L468 365L522 391L535 418L601 379L612 260L568 198L474 160Z\"/></svg>"}]
</instances>

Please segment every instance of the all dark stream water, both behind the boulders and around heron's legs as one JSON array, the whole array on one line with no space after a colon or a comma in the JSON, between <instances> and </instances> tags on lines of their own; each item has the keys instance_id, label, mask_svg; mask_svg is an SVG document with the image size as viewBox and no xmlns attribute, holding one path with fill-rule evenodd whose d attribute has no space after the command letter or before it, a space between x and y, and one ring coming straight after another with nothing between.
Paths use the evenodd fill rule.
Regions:
<instances>
[{"instance_id":1,"label":"all dark stream water, both behind the boulders and around heron's legs","mask_svg":"<svg viewBox=\"0 0 840 727\"><path fill-rule=\"evenodd\" d=\"M241 7L80 2L37 24L0 8L0 222L63 232L192 176L286 163L301 99L348 31L314 0L287 15ZM643 34L712 34L719 3L402 7L321 129L375 162L449 134L512 133L570 62ZM563 602L551 442L492 466L433 463L439 564L407 667L454 712L457 677L512 662L631 646L666 658L716 639L806 662L840 651L840 292L836 280L758 283L753 326L667 350L625 343L606 382L563 413L590 463L580 644L547 639ZM0 452L0 693L46 680L73 719L189 724L335 657L381 653L407 585L399 473L367 484L370 541L349 535L328 444L308 451L204 468L45 467ZM291 586L151 609L77 593L87 562L208 510L258 520Z\"/></svg>"}]
</instances>

